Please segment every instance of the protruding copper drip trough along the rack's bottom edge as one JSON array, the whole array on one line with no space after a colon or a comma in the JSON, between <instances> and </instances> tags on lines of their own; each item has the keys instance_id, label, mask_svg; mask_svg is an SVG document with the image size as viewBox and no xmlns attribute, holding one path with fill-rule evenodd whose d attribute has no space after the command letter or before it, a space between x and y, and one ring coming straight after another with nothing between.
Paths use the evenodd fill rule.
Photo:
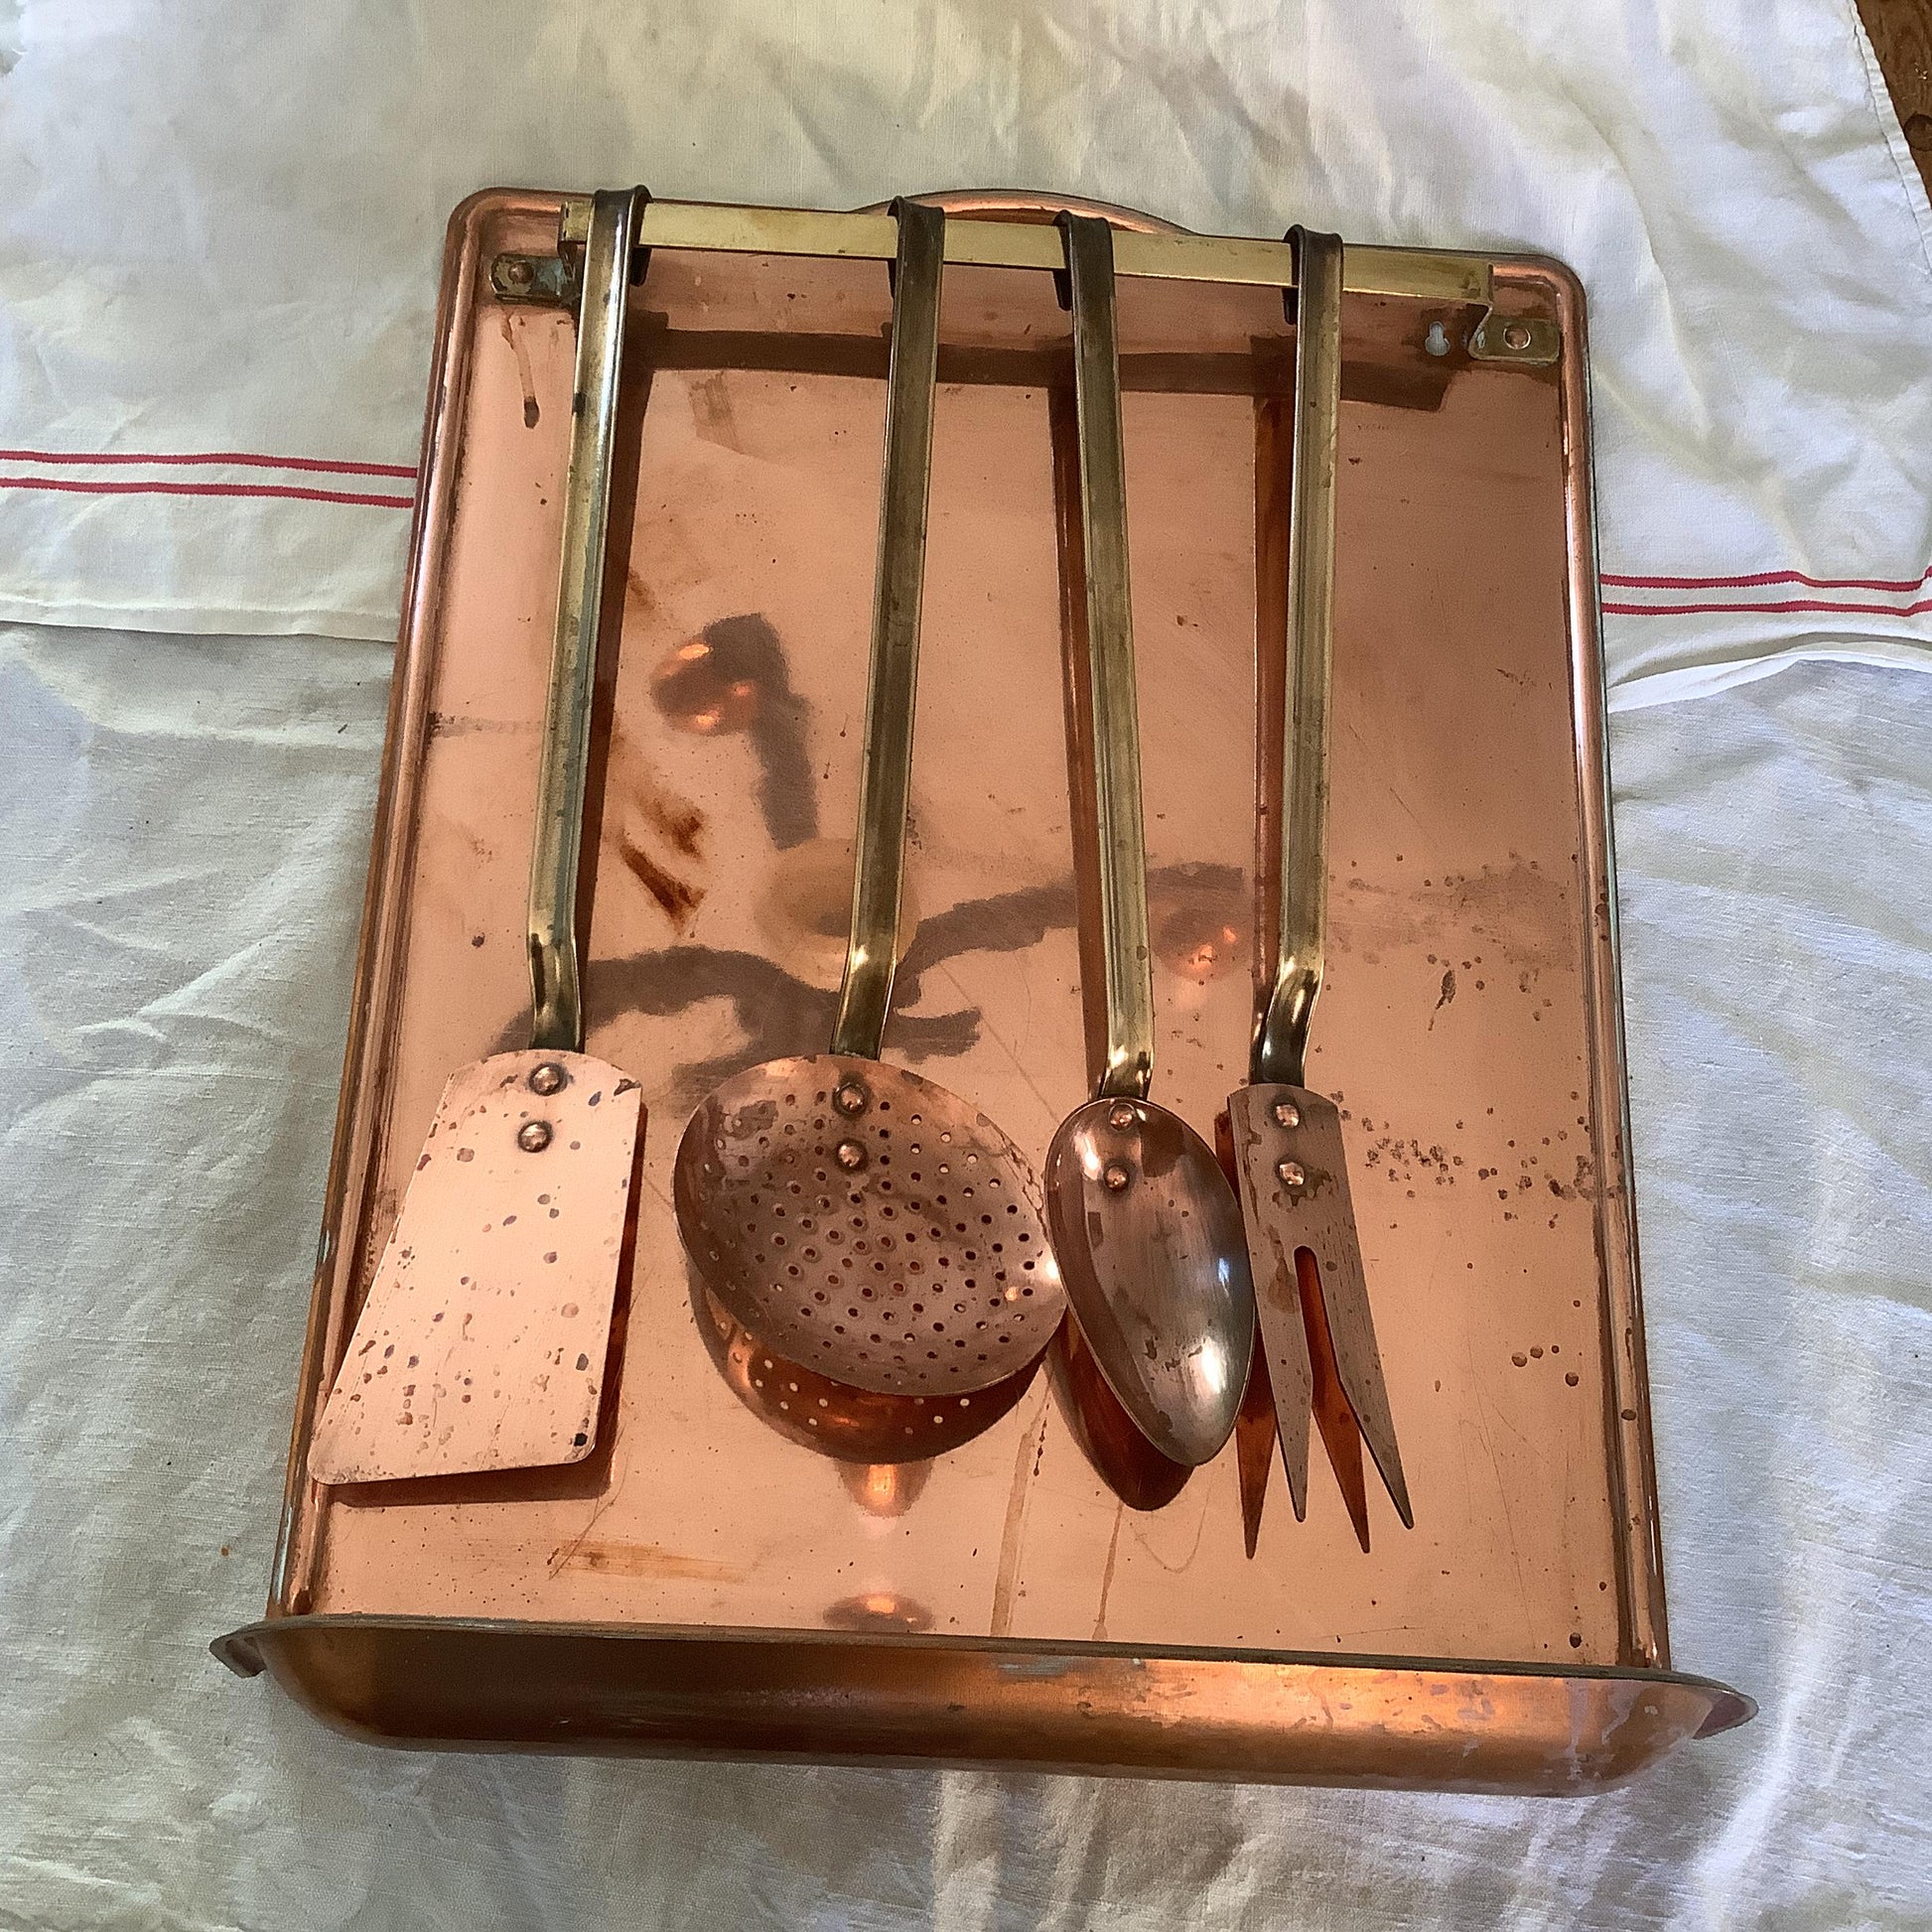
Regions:
<instances>
[{"instance_id":1,"label":"protruding copper drip trough along the rack's bottom edge","mask_svg":"<svg viewBox=\"0 0 1932 1932\"><path fill-rule=\"evenodd\" d=\"M877 1594L879 1598L885 1592ZM1509 1671L1383 1658L1209 1658L985 1644L869 1615L842 1636L612 1623L282 1617L220 1638L317 1716L394 1743L1007 1764L1242 1781L1582 1795L1743 1723L1723 1685L1658 1671ZM914 1604L895 1604L900 1615ZM871 1640L867 1640L871 1638ZM893 1640L898 1638L898 1640ZM477 1731L479 1687L491 1723Z\"/></svg>"}]
</instances>

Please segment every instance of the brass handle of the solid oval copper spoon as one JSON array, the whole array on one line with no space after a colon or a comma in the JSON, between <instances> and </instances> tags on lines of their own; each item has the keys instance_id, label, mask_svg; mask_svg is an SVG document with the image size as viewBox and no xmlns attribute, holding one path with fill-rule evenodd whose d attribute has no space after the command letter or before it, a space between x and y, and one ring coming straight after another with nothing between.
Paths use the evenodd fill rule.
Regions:
<instances>
[{"instance_id":1,"label":"brass handle of the solid oval copper spoon","mask_svg":"<svg viewBox=\"0 0 1932 1932\"><path fill-rule=\"evenodd\" d=\"M1121 444L1121 332L1113 228L1063 209L1074 311L1080 423L1080 531L1094 694L1094 804L1099 821L1101 941L1107 960L1107 1065L1099 1092L1146 1099L1153 1082L1153 956L1148 945L1148 838L1140 806L1140 699L1126 576L1126 452Z\"/></svg>"}]
</instances>

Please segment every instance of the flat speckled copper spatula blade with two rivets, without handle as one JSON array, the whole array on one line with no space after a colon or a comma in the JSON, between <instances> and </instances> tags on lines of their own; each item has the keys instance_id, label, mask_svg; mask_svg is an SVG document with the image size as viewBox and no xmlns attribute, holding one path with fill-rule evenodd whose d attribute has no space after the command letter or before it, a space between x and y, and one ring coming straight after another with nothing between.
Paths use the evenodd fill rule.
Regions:
<instances>
[{"instance_id":1,"label":"flat speckled copper spatula blade with two rivets, without handle","mask_svg":"<svg viewBox=\"0 0 1932 1932\"><path fill-rule=\"evenodd\" d=\"M580 1463L595 1447L643 1094L531 1049L458 1070L309 1445L317 1482Z\"/></svg>"}]
</instances>

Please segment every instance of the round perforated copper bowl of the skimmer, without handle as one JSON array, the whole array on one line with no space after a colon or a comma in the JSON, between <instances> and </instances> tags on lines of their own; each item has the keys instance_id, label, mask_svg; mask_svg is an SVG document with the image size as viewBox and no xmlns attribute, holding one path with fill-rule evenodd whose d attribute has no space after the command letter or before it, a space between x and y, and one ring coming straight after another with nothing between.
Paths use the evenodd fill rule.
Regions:
<instances>
[{"instance_id":1,"label":"round perforated copper bowl of the skimmer, without handle","mask_svg":"<svg viewBox=\"0 0 1932 1932\"><path fill-rule=\"evenodd\" d=\"M854 1088L844 1113L837 1095ZM674 1192L724 1308L856 1389L983 1389L1059 1325L1032 1169L981 1113L900 1066L827 1053L732 1076L686 1126Z\"/></svg>"}]
</instances>

